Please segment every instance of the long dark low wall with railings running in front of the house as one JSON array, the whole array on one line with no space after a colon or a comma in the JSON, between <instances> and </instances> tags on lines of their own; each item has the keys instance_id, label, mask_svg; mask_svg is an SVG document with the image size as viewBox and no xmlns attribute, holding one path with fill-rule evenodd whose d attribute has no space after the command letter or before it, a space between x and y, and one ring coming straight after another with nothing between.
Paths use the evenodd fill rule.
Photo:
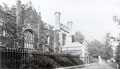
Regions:
<instances>
[{"instance_id":1,"label":"long dark low wall with railings running in front of the house","mask_svg":"<svg viewBox=\"0 0 120 69\"><path fill-rule=\"evenodd\" d=\"M79 56L0 47L0 69L52 69L81 64Z\"/></svg>"}]
</instances>

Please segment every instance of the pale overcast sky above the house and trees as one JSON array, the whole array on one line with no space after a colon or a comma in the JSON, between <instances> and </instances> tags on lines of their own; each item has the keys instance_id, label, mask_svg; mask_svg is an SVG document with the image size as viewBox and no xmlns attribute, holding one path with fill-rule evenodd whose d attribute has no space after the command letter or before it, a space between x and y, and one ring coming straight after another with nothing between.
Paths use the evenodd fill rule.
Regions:
<instances>
[{"instance_id":1,"label":"pale overcast sky above the house and trees","mask_svg":"<svg viewBox=\"0 0 120 69\"><path fill-rule=\"evenodd\" d=\"M11 6L16 0L0 0ZM22 0L27 3L30 0ZM31 0L38 11L40 6L42 20L55 25L54 13L61 12L61 23L73 21L73 33L81 31L87 40L103 40L105 33L117 35L117 23L113 16L120 16L120 0Z\"/></svg>"}]
</instances>

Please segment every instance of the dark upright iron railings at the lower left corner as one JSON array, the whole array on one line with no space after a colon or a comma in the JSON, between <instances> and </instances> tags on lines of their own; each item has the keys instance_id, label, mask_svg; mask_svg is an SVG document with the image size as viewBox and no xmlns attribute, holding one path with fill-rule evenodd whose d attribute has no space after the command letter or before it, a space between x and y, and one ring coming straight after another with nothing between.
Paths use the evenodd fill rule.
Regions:
<instances>
[{"instance_id":1,"label":"dark upright iron railings at the lower left corner","mask_svg":"<svg viewBox=\"0 0 120 69\"><path fill-rule=\"evenodd\" d=\"M0 47L0 69L17 69L26 63L29 57L27 49Z\"/></svg>"}]
</instances>

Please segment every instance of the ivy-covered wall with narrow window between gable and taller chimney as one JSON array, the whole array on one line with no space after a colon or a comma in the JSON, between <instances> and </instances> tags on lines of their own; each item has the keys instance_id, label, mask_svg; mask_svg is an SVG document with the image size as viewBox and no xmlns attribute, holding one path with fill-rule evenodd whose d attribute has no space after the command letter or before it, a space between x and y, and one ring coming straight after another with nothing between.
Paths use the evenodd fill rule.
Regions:
<instances>
[{"instance_id":1,"label":"ivy-covered wall with narrow window between gable and taller chimney","mask_svg":"<svg viewBox=\"0 0 120 69\"><path fill-rule=\"evenodd\" d=\"M54 46L54 31L51 25L48 25L49 28L46 27L46 23L42 24L42 33L40 37L40 46L46 46L49 52L53 52ZM42 49L42 48L41 48ZM43 50L43 49L42 49Z\"/></svg>"}]
</instances>

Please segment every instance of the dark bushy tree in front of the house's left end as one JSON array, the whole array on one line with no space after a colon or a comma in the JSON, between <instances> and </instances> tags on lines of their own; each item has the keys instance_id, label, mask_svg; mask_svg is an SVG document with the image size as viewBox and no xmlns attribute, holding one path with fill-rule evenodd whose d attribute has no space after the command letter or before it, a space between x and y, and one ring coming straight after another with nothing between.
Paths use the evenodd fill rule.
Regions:
<instances>
[{"instance_id":1,"label":"dark bushy tree in front of the house's left end","mask_svg":"<svg viewBox=\"0 0 120 69\"><path fill-rule=\"evenodd\" d=\"M13 22L5 23L4 26L1 27L3 31L5 31L5 36L0 36L0 41L6 47L23 47L23 38L21 38L17 32L16 24Z\"/></svg>"}]
</instances>

